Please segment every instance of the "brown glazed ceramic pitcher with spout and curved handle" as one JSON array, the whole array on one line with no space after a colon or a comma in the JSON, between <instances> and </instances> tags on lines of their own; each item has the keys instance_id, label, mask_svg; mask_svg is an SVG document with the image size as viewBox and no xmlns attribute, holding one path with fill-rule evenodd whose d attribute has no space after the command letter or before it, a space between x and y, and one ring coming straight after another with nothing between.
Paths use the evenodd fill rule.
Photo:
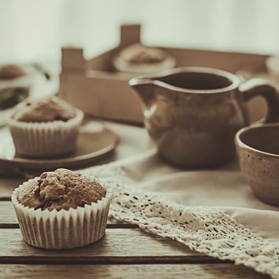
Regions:
<instances>
[{"instance_id":1,"label":"brown glazed ceramic pitcher with spout and curved handle","mask_svg":"<svg viewBox=\"0 0 279 279\"><path fill-rule=\"evenodd\" d=\"M231 73L206 67L181 67L129 81L143 100L144 123L170 163L211 167L235 154L234 135L249 125L246 103L262 96L264 122L278 121L276 90L263 79L240 84Z\"/></svg>"}]
</instances>

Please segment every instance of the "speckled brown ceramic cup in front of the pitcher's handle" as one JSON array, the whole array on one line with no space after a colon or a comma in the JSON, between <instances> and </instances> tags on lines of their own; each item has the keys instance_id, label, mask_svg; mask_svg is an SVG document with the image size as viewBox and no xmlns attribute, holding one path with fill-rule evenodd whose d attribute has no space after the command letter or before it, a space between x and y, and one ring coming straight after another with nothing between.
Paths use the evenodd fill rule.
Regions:
<instances>
[{"instance_id":1,"label":"speckled brown ceramic cup in front of the pitcher's handle","mask_svg":"<svg viewBox=\"0 0 279 279\"><path fill-rule=\"evenodd\" d=\"M257 124L235 135L240 169L262 201L279 205L279 124Z\"/></svg>"}]
</instances>

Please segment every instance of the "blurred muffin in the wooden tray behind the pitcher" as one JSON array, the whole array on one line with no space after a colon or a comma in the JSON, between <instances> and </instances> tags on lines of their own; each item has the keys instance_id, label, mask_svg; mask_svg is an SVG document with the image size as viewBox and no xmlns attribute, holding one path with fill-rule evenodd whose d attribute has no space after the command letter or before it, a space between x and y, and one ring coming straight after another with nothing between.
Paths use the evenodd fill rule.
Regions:
<instances>
[{"instance_id":1,"label":"blurred muffin in the wooden tray behind the pitcher","mask_svg":"<svg viewBox=\"0 0 279 279\"><path fill-rule=\"evenodd\" d=\"M176 60L161 49L134 44L121 50L113 64L120 72L149 74L174 67Z\"/></svg>"}]
</instances>

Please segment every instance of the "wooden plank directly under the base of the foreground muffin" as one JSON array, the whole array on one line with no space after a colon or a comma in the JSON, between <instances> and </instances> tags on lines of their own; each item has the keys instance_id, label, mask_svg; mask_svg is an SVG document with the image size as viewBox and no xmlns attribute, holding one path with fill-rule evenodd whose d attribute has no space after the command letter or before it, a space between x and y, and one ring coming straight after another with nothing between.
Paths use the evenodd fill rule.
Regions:
<instances>
[{"instance_id":1,"label":"wooden plank directly under the base of the foreground muffin","mask_svg":"<svg viewBox=\"0 0 279 279\"><path fill-rule=\"evenodd\" d=\"M0 263L189 263L219 262L182 243L140 229L109 229L98 242L72 250L27 245L19 229L0 229Z\"/></svg>"}]
</instances>

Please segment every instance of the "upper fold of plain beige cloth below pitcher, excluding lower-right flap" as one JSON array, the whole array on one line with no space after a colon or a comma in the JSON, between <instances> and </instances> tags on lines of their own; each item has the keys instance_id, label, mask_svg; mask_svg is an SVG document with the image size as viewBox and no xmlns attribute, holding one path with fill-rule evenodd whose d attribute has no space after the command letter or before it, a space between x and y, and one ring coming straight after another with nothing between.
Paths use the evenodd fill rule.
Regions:
<instances>
[{"instance_id":1,"label":"upper fold of plain beige cloth below pitcher, excluding lower-right flap","mask_svg":"<svg viewBox=\"0 0 279 279\"><path fill-rule=\"evenodd\" d=\"M141 187L166 193L178 203L279 210L279 207L266 204L254 195L237 162L219 169L184 170L166 164L153 149L118 164Z\"/></svg>"}]
</instances>

